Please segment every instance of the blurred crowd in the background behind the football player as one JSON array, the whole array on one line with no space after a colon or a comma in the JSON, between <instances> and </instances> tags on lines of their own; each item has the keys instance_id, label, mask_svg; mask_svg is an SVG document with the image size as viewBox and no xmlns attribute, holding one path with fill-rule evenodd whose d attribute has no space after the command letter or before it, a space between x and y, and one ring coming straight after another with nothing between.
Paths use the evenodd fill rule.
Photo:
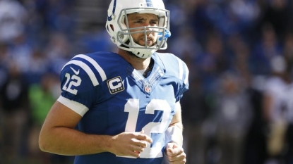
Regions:
<instances>
[{"instance_id":1,"label":"blurred crowd in the background behind the football player","mask_svg":"<svg viewBox=\"0 0 293 164\"><path fill-rule=\"evenodd\" d=\"M190 70L181 100L187 163L292 164L293 1L164 1L164 52ZM77 33L77 2L0 0L0 163L73 161L37 144L59 72L78 53L116 51L104 24Z\"/></svg>"}]
</instances>

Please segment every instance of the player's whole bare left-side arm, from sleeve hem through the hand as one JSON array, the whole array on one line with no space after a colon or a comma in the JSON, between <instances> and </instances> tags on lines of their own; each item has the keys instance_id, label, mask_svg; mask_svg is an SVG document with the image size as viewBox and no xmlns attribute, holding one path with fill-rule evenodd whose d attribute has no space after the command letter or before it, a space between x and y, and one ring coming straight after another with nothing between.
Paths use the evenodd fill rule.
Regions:
<instances>
[{"instance_id":1,"label":"player's whole bare left-side arm, from sleeve hem through the hand","mask_svg":"<svg viewBox=\"0 0 293 164\"><path fill-rule=\"evenodd\" d=\"M81 116L56 101L40 132L40 149L61 155L83 155L111 152L117 156L138 157L151 139L139 132L124 132L116 136L85 134L74 128Z\"/></svg>"}]
</instances>

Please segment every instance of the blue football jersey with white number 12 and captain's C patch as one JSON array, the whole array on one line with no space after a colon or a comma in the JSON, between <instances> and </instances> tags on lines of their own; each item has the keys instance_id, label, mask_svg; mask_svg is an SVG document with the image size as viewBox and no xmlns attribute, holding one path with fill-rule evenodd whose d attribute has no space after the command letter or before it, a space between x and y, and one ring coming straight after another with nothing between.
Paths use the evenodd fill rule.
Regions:
<instances>
[{"instance_id":1,"label":"blue football jersey with white number 12 and captain's C patch","mask_svg":"<svg viewBox=\"0 0 293 164\"><path fill-rule=\"evenodd\" d=\"M83 117L78 130L107 135L144 130L153 139L140 158L105 152L76 156L74 163L162 163L165 130L175 103L189 87L189 70L171 53L154 53L152 58L148 77L111 52L80 54L64 65L58 101Z\"/></svg>"}]
</instances>

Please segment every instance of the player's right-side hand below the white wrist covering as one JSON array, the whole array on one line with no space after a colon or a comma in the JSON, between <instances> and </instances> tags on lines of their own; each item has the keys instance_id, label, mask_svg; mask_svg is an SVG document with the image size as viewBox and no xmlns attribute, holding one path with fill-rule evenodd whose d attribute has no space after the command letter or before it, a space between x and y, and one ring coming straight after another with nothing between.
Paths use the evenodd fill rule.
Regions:
<instances>
[{"instance_id":1,"label":"player's right-side hand below the white wrist covering","mask_svg":"<svg viewBox=\"0 0 293 164\"><path fill-rule=\"evenodd\" d=\"M169 164L181 164L186 163L186 154L183 148L179 147L174 142L169 142L165 150Z\"/></svg>"}]
</instances>

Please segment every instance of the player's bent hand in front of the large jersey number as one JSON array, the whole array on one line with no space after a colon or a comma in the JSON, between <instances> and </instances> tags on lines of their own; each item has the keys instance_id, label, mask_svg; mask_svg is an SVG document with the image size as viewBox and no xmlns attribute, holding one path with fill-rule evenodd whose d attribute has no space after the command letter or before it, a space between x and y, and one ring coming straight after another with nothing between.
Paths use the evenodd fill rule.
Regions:
<instances>
[{"instance_id":1,"label":"player's bent hand in front of the large jersey number","mask_svg":"<svg viewBox=\"0 0 293 164\"><path fill-rule=\"evenodd\" d=\"M132 156L138 158L143 149L153 140L141 132L123 132L111 139L112 144L109 152L116 156Z\"/></svg>"}]
</instances>

